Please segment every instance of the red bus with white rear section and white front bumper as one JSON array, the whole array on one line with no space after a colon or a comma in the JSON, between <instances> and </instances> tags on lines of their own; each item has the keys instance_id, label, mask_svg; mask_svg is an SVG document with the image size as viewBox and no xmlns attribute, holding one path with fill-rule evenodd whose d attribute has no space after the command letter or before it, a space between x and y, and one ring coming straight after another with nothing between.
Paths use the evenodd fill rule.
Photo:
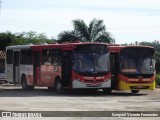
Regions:
<instances>
[{"instance_id":1,"label":"red bus with white rear section and white front bumper","mask_svg":"<svg viewBox=\"0 0 160 120\"><path fill-rule=\"evenodd\" d=\"M109 45L63 43L18 45L6 48L6 79L21 83L24 90L35 85L63 88L110 90Z\"/></svg>"}]
</instances>

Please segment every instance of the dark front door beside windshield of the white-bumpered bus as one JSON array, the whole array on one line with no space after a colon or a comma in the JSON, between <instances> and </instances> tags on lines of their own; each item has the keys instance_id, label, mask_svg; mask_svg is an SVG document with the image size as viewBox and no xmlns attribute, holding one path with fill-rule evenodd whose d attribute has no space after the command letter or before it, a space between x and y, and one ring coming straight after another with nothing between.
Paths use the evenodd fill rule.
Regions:
<instances>
[{"instance_id":1,"label":"dark front door beside windshield of the white-bumpered bus","mask_svg":"<svg viewBox=\"0 0 160 120\"><path fill-rule=\"evenodd\" d=\"M72 51L63 51L62 53L62 85L68 87L71 85L72 78Z\"/></svg>"}]
</instances>

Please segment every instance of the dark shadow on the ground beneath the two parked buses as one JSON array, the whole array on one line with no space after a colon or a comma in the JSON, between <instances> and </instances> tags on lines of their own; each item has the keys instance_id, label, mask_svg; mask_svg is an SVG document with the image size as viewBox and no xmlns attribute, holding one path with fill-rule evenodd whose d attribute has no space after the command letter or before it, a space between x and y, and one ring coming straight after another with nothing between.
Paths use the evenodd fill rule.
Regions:
<instances>
[{"instance_id":1,"label":"dark shadow on the ground beneath the two parked buses","mask_svg":"<svg viewBox=\"0 0 160 120\"><path fill-rule=\"evenodd\" d=\"M55 91L49 91L47 88L36 87L32 91L24 91L21 87L1 87L0 97L42 97L42 96L57 96L57 97L116 97L116 96L144 96L148 93L141 91L138 94L132 94L130 91L112 91L111 94L98 91L84 90L65 90L62 94L57 94Z\"/></svg>"}]
</instances>

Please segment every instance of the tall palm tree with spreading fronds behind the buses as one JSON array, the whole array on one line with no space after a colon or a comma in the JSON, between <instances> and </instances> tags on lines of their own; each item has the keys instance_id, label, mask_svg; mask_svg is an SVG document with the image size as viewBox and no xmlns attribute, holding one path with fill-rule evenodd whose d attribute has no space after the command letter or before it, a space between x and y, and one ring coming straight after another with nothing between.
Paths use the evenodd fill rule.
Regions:
<instances>
[{"instance_id":1,"label":"tall palm tree with spreading fronds behind the buses","mask_svg":"<svg viewBox=\"0 0 160 120\"><path fill-rule=\"evenodd\" d=\"M106 27L103 20L93 19L89 26L81 19L73 20L73 31L64 31L58 35L59 42L73 42L80 40L82 42L105 42L111 43L115 40Z\"/></svg>"}]
</instances>

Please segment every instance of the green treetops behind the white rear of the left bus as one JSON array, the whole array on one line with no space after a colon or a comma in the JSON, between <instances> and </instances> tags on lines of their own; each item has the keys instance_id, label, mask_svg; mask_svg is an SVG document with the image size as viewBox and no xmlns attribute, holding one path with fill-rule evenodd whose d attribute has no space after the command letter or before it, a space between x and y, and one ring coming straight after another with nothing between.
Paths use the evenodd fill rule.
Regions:
<instances>
[{"instance_id":1,"label":"green treetops behind the white rear of the left bus","mask_svg":"<svg viewBox=\"0 0 160 120\"><path fill-rule=\"evenodd\" d=\"M48 39L44 33L36 33L34 31L14 33L0 33L0 50L5 50L9 45L26 45L29 43L52 43L54 40Z\"/></svg>"}]
</instances>

